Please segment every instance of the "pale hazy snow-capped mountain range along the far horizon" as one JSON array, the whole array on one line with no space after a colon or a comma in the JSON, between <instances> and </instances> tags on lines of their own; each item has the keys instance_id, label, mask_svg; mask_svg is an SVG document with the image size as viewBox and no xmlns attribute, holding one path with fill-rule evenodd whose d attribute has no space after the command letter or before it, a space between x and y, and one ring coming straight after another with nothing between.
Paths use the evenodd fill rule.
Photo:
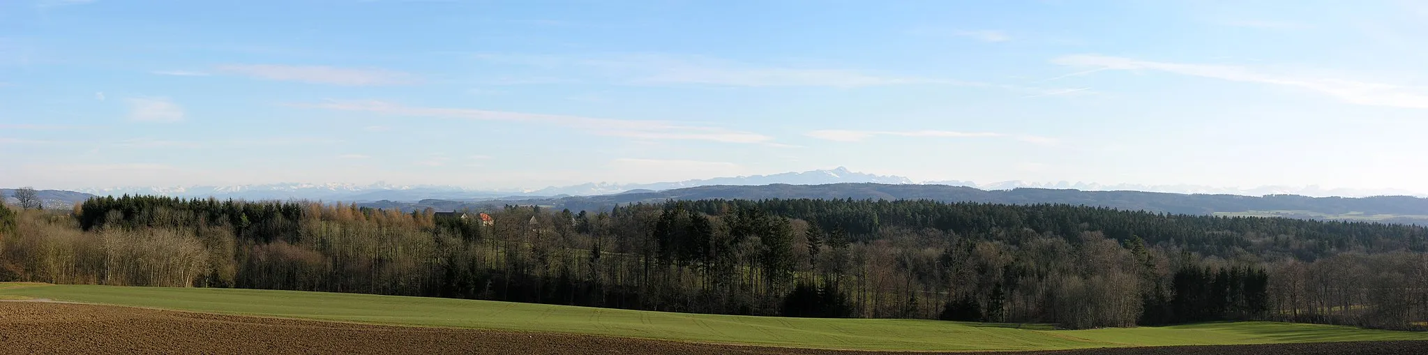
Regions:
<instances>
[{"instance_id":1,"label":"pale hazy snow-capped mountain range along the far horizon","mask_svg":"<svg viewBox=\"0 0 1428 355\"><path fill-rule=\"evenodd\" d=\"M547 187L540 190L473 190L447 185L394 185L394 184L261 184L261 185L230 185L230 187L123 187L123 188L86 188L80 192L96 195L171 195L171 197L216 197L241 200L323 200L323 201L420 201L420 200L510 200L534 197L578 197L578 195L608 195L621 192L665 191L705 185L818 185L818 184L925 184L925 185L954 185L972 187L978 190L1014 190L1014 188L1055 188L1082 191L1148 191L1148 192L1180 192L1180 194L1234 194L1234 195L1268 195L1295 194L1308 197L1369 197L1369 195L1419 195L1421 192L1405 190L1349 190L1349 188L1319 188L1319 187L1257 187L1257 188L1224 188L1205 185L1138 185L1138 184L1095 184L1095 182L1025 182L1001 181L977 184L972 181L922 181L914 182L907 177L875 175L850 171L838 167L834 170L813 170L803 173L783 173L771 175L750 177L718 177L707 180L688 180L675 182L654 184L613 184L587 182L567 187Z\"/></svg>"}]
</instances>

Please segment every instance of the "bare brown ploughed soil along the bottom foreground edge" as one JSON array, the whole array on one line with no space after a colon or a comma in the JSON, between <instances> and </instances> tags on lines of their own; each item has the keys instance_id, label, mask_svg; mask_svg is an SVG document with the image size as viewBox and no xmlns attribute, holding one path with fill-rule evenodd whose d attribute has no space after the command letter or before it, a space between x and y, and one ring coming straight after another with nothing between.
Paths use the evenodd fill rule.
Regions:
<instances>
[{"instance_id":1,"label":"bare brown ploughed soil along the bottom foreground edge","mask_svg":"<svg viewBox=\"0 0 1428 355\"><path fill-rule=\"evenodd\" d=\"M877 355L888 352L708 345L570 334L388 326L84 304L0 302L0 354ZM1428 342L1167 346L1017 354L1428 354Z\"/></svg>"}]
</instances>

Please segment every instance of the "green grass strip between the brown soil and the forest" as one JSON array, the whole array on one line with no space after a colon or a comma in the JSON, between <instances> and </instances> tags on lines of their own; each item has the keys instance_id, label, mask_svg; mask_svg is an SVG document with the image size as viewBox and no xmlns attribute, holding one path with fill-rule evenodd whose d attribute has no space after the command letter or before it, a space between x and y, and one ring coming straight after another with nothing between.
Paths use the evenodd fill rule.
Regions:
<instances>
[{"instance_id":1,"label":"green grass strip between the brown soil and the forest","mask_svg":"<svg viewBox=\"0 0 1428 355\"><path fill-rule=\"evenodd\" d=\"M0 284L0 297L163 309L837 349L1014 351L1428 339L1424 332L1279 322L1057 331L1048 325L697 315L423 297L221 288Z\"/></svg>"}]
</instances>

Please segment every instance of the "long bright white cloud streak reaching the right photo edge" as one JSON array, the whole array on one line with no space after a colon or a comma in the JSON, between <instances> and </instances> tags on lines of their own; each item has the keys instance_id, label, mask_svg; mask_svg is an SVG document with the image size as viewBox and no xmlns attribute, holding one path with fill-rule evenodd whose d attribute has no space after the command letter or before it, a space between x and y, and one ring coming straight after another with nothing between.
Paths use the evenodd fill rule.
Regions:
<instances>
[{"instance_id":1,"label":"long bright white cloud streak reaching the right photo edge","mask_svg":"<svg viewBox=\"0 0 1428 355\"><path fill-rule=\"evenodd\" d=\"M1428 108L1428 88L1372 83L1359 80L1294 76L1271 73L1237 66L1190 64L1145 61L1125 57L1110 57L1097 54L1065 56L1052 60L1055 64L1071 67L1090 67L1104 70L1127 71L1164 71L1181 76L1207 77L1241 83L1258 83L1279 87L1307 90L1339 101L1361 106L1384 106L1402 108Z\"/></svg>"}]
</instances>

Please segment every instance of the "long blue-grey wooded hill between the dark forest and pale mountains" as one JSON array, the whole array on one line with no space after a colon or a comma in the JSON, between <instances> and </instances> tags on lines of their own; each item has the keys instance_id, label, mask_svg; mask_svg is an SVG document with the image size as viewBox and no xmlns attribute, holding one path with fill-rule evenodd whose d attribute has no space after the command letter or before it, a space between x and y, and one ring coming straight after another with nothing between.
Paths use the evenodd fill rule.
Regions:
<instances>
[{"instance_id":1,"label":"long blue-grey wooded hill between the dark forest and pale mountains","mask_svg":"<svg viewBox=\"0 0 1428 355\"><path fill-rule=\"evenodd\" d=\"M461 208L488 208L503 204L534 204L571 211L604 211L620 204L663 202L667 200L710 200L710 198L853 198L853 200L935 200L945 202L998 202L998 204L1072 204L1097 205L1118 210L1141 210L1172 214L1242 214L1281 215L1315 220L1374 220L1385 222L1428 222L1428 198L1417 197L1302 197L1302 195L1227 195L1227 194L1170 194L1142 191L1081 191L1050 188L1015 188L987 191L952 185L907 185L907 184L823 184L823 185L710 185L677 188L651 192L625 192L614 195L564 197L564 198L506 198L493 201L456 202L448 200L426 200L421 202L364 204L381 208L436 208L453 211ZM1278 212L1268 212L1278 211ZM1295 214L1298 211L1298 214ZM1355 218L1357 215L1357 218ZM1377 218L1367 218L1377 215Z\"/></svg>"}]
</instances>

